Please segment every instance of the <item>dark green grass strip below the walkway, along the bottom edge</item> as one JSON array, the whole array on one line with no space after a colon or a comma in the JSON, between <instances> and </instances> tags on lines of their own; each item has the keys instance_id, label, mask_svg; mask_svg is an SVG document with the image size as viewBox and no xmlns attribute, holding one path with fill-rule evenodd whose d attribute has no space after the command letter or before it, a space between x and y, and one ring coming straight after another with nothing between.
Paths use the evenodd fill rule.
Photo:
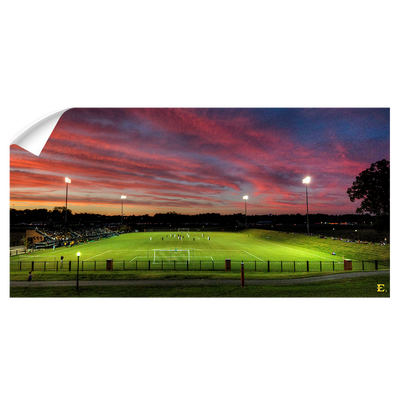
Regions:
<instances>
[{"instance_id":1,"label":"dark green grass strip below the walkway, along the bottom edge","mask_svg":"<svg viewBox=\"0 0 400 400\"><path fill-rule=\"evenodd\" d=\"M377 292L377 283L387 292ZM96 286L7 288L8 300L389 300L388 276L301 285Z\"/></svg>"}]
</instances>

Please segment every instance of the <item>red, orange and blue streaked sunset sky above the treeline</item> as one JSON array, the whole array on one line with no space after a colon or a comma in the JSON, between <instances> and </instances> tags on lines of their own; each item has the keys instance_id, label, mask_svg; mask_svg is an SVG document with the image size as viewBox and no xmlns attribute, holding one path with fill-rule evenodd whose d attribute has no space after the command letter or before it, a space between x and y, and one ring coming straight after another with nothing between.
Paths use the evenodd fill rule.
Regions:
<instances>
[{"instance_id":1,"label":"red, orange and blue streaked sunset sky above the treeline","mask_svg":"<svg viewBox=\"0 0 400 400\"><path fill-rule=\"evenodd\" d=\"M389 106L88 106L39 157L7 147L7 207L73 213L355 213L346 193L390 152Z\"/></svg>"}]
</instances>

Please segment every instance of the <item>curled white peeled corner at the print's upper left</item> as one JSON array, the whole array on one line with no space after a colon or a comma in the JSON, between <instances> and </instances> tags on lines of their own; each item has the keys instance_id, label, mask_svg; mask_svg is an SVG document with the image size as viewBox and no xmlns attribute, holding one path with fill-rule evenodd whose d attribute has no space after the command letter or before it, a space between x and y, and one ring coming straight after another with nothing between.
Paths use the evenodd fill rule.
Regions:
<instances>
[{"instance_id":1,"label":"curled white peeled corner at the print's upper left","mask_svg":"<svg viewBox=\"0 0 400 400\"><path fill-rule=\"evenodd\" d=\"M43 117L41 120L21 132L10 143L7 143L7 146L16 144L35 156L39 156L56 127L58 120L66 111L71 110L74 106L75 105L69 106L64 110L56 111Z\"/></svg>"}]
</instances>

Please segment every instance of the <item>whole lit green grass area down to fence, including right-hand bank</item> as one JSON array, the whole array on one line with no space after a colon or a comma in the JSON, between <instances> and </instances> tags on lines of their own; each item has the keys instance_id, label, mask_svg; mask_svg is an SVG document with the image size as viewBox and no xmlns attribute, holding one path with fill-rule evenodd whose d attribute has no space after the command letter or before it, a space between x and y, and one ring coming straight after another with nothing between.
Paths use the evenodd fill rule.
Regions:
<instances>
[{"instance_id":1,"label":"whole lit green grass area down to fence, including right-hand bank","mask_svg":"<svg viewBox=\"0 0 400 400\"><path fill-rule=\"evenodd\" d=\"M318 239L315 236L260 229L239 233L185 232L182 233L182 241L177 236L178 232L127 233L78 246L57 248L55 251L41 250L7 257L7 271L17 271L20 268L29 270L32 261L38 266L35 270L46 268L46 271L51 271L56 265L57 269L61 269L61 256L64 256L63 270L68 268L69 261L72 262L72 269L76 270L78 251L85 270L95 268L99 271L105 269L107 259L114 260L114 270L148 267L186 269L187 260L192 269L199 269L200 266L200 269L222 270L225 259L231 259L232 270L238 270L242 261L245 268L262 270L270 261L271 272L290 272L293 271L293 262L296 261L297 272L304 271L306 261L309 261L310 271L328 271L332 270L333 262L335 270L343 270L343 258L364 260L364 268L369 270L375 267L373 260L389 260L393 249L393 245L345 243L331 238ZM175 252L175 249L183 251ZM336 255L332 255L332 252ZM43 266L43 261L46 261L46 267ZM361 263L353 262L353 269L361 269Z\"/></svg>"}]
</instances>

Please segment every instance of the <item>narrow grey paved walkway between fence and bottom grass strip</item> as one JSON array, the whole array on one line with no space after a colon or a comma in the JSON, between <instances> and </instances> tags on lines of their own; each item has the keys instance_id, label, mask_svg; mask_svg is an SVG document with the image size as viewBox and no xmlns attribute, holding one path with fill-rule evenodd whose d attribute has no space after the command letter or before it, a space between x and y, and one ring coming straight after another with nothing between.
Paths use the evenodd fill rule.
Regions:
<instances>
[{"instance_id":1,"label":"narrow grey paved walkway between fence and bottom grass strip","mask_svg":"<svg viewBox=\"0 0 400 400\"><path fill-rule=\"evenodd\" d=\"M344 274L333 274L323 276L311 276L308 278L289 279L246 279L245 285L299 285L303 283L333 281L337 279L351 279L363 276L389 275L393 270L370 271L370 272L348 272ZM43 286L75 286L76 281L7 281L7 287L43 287ZM79 286L200 286L200 285L240 285L240 279L137 279L137 280L96 280L79 281Z\"/></svg>"}]
</instances>

